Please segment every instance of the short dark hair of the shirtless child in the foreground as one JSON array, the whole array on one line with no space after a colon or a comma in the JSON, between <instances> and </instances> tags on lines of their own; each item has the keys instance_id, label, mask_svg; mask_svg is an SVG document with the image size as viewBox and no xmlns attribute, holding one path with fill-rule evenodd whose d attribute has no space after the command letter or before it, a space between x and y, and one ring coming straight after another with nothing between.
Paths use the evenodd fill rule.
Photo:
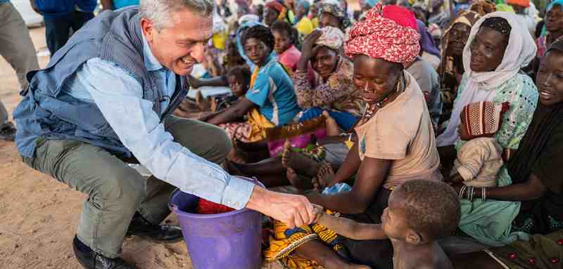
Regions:
<instances>
[{"instance_id":1,"label":"short dark hair of the shirtless child in the foreground","mask_svg":"<svg viewBox=\"0 0 563 269\"><path fill-rule=\"evenodd\" d=\"M451 235L460 223L460 197L441 181L416 179L400 185L404 195L407 225L433 239Z\"/></svg>"}]
</instances>

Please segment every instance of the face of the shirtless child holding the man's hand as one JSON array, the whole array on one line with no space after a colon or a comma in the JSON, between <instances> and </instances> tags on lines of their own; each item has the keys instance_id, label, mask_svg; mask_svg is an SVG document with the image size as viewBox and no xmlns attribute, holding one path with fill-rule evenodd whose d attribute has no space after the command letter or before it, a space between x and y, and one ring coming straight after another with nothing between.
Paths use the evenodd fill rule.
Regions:
<instances>
[{"instance_id":1,"label":"face of the shirtless child holding the man's hand","mask_svg":"<svg viewBox=\"0 0 563 269\"><path fill-rule=\"evenodd\" d=\"M381 215L381 228L389 238L397 240L405 240L410 231L403 198L400 192L391 192L388 206Z\"/></svg>"}]
</instances>

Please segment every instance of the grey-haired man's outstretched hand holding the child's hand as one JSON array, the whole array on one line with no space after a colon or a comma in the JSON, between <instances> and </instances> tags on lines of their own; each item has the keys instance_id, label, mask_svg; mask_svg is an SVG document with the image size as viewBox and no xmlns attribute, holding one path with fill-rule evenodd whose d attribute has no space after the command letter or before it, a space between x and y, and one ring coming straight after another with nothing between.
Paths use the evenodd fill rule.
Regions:
<instances>
[{"instance_id":1,"label":"grey-haired man's outstretched hand holding the child's hand","mask_svg":"<svg viewBox=\"0 0 563 269\"><path fill-rule=\"evenodd\" d=\"M317 218L315 207L304 196L272 192L258 186L246 207L284 222L290 229L308 225Z\"/></svg>"}]
</instances>

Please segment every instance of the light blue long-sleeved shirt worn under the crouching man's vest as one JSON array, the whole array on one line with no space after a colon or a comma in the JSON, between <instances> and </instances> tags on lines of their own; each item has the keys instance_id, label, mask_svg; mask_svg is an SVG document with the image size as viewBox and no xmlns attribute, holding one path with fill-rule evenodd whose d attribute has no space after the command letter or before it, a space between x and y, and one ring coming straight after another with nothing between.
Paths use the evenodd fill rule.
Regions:
<instances>
[{"instance_id":1,"label":"light blue long-sleeved shirt worn under the crouching man's vest","mask_svg":"<svg viewBox=\"0 0 563 269\"><path fill-rule=\"evenodd\" d=\"M161 96L172 96L175 74L158 63L143 37L144 62L148 72L158 74L165 85ZM173 141L165 131L153 104L143 99L143 88L133 75L101 58L88 60L63 88L63 93L96 103L121 143L153 176L212 202L234 209L246 206L254 185L230 176L217 164L208 162ZM170 98L161 100L163 114ZM186 134L189 136L189 133ZM213 139L213 138L209 138Z\"/></svg>"}]
</instances>

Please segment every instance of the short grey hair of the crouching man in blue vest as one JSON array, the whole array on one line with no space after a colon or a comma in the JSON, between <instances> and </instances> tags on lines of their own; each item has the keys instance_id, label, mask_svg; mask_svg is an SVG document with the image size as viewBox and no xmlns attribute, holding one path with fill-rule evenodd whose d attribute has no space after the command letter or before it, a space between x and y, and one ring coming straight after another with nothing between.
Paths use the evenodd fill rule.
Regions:
<instances>
[{"instance_id":1,"label":"short grey hair of the crouching man in blue vest","mask_svg":"<svg viewBox=\"0 0 563 269\"><path fill-rule=\"evenodd\" d=\"M215 0L141 0L139 11L141 17L153 22L156 29L160 30L172 25L173 13L181 8L201 15L209 16L213 13Z\"/></svg>"}]
</instances>

